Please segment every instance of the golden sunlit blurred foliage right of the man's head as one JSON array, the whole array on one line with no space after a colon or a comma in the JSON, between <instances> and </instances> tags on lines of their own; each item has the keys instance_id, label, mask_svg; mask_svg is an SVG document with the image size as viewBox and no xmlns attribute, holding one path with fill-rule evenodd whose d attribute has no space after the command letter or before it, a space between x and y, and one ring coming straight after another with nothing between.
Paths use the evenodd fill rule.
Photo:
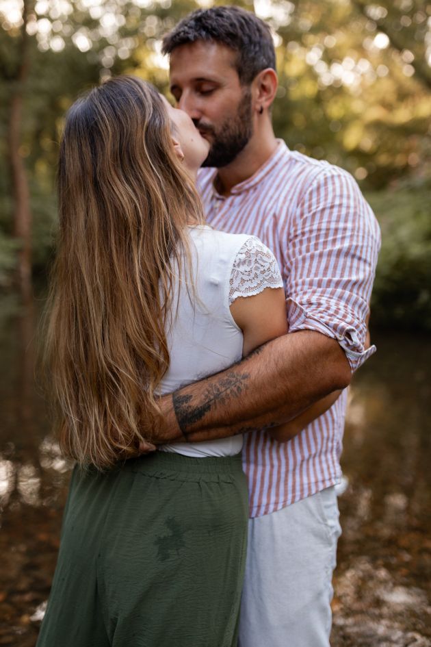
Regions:
<instances>
[{"instance_id":1,"label":"golden sunlit blurred foliage right of the man's head","mask_svg":"<svg viewBox=\"0 0 431 647\"><path fill-rule=\"evenodd\" d=\"M366 178L369 188L414 175L419 166L430 173L423 3L298 0L282 23L279 136Z\"/></svg>"}]
</instances>

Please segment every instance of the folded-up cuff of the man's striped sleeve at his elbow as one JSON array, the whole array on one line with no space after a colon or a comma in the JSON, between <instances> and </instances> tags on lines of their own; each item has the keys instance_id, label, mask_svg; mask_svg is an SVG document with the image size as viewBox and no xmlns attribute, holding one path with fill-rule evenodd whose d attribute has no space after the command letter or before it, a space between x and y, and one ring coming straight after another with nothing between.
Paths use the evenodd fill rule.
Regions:
<instances>
[{"instance_id":1,"label":"folded-up cuff of the man's striped sleeve at his elbow","mask_svg":"<svg viewBox=\"0 0 431 647\"><path fill-rule=\"evenodd\" d=\"M345 352L352 372L376 353L376 346L374 345L367 348L366 351L363 350L363 344L359 340L358 332L352 326L335 322L332 329L319 318L315 318L312 314L306 312L304 307L293 301L293 299L287 299L287 316L289 333L295 333L299 330L314 330L317 333L326 335L326 337L336 339Z\"/></svg>"}]
</instances>

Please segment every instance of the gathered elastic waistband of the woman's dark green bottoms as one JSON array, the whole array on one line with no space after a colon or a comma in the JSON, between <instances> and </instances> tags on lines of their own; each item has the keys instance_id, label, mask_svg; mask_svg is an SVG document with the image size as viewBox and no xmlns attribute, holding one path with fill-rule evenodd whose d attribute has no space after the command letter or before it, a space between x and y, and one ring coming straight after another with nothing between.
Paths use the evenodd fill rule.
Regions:
<instances>
[{"instance_id":1,"label":"gathered elastic waistband of the woman's dark green bottoms","mask_svg":"<svg viewBox=\"0 0 431 647\"><path fill-rule=\"evenodd\" d=\"M132 472L154 472L155 470L172 470L192 474L224 474L242 470L241 453L235 456L208 456L195 458L177 453L155 451L151 454L129 459L121 469Z\"/></svg>"}]
</instances>

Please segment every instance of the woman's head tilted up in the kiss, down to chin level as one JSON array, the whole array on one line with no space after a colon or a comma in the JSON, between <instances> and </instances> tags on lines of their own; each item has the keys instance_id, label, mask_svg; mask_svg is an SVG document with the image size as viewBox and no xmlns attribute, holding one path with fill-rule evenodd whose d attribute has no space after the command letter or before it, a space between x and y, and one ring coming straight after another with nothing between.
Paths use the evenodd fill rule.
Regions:
<instances>
[{"instance_id":1,"label":"woman's head tilted up in the kiss, down to chin level","mask_svg":"<svg viewBox=\"0 0 431 647\"><path fill-rule=\"evenodd\" d=\"M83 181L88 191L99 190L105 180L124 182L138 192L146 182L164 189L167 174L188 170L194 175L207 153L207 142L187 114L175 110L151 84L117 77L70 108L60 151L60 190L62 181Z\"/></svg>"}]
</instances>

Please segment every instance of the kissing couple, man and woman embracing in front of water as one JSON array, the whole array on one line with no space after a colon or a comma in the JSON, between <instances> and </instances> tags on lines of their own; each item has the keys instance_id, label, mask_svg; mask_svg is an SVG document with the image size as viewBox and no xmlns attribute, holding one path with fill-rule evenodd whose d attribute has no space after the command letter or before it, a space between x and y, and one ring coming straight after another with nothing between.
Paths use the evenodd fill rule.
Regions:
<instances>
[{"instance_id":1,"label":"kissing couple, man and woman embracing in front of water","mask_svg":"<svg viewBox=\"0 0 431 647\"><path fill-rule=\"evenodd\" d=\"M46 360L76 466L38 647L328 647L378 226L275 138L259 18L199 10L164 51L176 108L118 77L66 118Z\"/></svg>"}]
</instances>

